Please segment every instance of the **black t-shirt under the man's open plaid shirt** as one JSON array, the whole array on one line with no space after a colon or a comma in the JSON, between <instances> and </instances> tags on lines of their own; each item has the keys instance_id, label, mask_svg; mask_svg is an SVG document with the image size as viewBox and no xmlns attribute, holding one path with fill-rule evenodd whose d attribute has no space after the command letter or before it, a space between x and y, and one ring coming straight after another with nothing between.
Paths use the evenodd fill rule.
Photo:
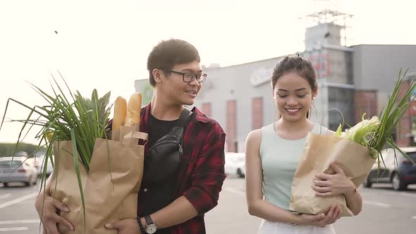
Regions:
<instances>
[{"instance_id":1,"label":"black t-shirt under the man's open plaid shirt","mask_svg":"<svg viewBox=\"0 0 416 234\"><path fill-rule=\"evenodd\" d=\"M157 118L154 118L151 113L149 113L149 122L148 122L148 134L149 134L149 147L157 142L161 137L169 133L171 128L181 125L181 120L177 119L174 121L161 121ZM177 173L177 172L176 172ZM138 214L140 217L153 214L166 207L168 204L173 202L173 196L176 188L176 174L169 176L168 179L164 180L161 183L156 184L146 184L143 181L142 186L140 187L139 199L141 199L142 211L144 214ZM169 234L169 228L158 229L156 234Z\"/></svg>"}]
</instances>

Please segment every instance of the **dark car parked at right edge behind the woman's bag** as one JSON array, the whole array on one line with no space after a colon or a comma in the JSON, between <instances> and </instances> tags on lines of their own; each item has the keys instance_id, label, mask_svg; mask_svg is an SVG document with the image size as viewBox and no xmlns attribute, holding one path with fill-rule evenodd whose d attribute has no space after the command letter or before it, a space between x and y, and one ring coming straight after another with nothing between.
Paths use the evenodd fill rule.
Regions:
<instances>
[{"instance_id":1,"label":"dark car parked at right edge behind the woman's bag","mask_svg":"<svg viewBox=\"0 0 416 234\"><path fill-rule=\"evenodd\" d=\"M402 147L412 161L416 162L416 147ZM397 161L394 157L396 152ZM416 183L416 165L413 164L398 150L386 149L381 152L384 164L380 161L380 170L377 174L378 162L372 166L367 180L364 181L364 187L371 187L373 183L391 183L394 190L405 190L408 185Z\"/></svg>"}]
</instances>

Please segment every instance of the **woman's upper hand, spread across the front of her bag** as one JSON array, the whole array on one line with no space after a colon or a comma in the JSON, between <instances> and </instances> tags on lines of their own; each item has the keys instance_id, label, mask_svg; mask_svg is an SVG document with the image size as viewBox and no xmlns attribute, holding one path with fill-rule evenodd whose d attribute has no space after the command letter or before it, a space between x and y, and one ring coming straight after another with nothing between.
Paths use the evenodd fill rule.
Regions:
<instances>
[{"instance_id":1,"label":"woman's upper hand, spread across the front of her bag","mask_svg":"<svg viewBox=\"0 0 416 234\"><path fill-rule=\"evenodd\" d=\"M335 162L331 163L331 168L335 174L317 173L314 177L312 188L316 191L317 197L343 195L356 189L353 181L345 176L343 169Z\"/></svg>"}]
</instances>

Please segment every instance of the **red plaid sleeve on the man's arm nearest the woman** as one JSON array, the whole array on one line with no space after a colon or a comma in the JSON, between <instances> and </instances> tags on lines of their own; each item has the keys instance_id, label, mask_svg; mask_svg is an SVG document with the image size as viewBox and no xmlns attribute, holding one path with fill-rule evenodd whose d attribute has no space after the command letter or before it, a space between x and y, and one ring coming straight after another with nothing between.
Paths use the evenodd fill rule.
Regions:
<instances>
[{"instance_id":1,"label":"red plaid sleeve on the man's arm nearest the woman","mask_svg":"<svg viewBox=\"0 0 416 234\"><path fill-rule=\"evenodd\" d=\"M219 125L217 129L209 130L191 175L191 187L183 193L198 214L204 214L218 204L219 192L226 178L225 140L226 135Z\"/></svg>"}]
</instances>

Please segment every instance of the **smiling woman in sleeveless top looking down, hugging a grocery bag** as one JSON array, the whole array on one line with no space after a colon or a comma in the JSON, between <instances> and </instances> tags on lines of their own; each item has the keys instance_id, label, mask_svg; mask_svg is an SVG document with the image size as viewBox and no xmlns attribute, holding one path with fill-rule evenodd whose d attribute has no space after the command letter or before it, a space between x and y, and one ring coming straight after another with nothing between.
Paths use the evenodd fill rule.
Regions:
<instances>
[{"instance_id":1,"label":"smiling woman in sleeveless top looking down, hugging a grocery bag","mask_svg":"<svg viewBox=\"0 0 416 234\"><path fill-rule=\"evenodd\" d=\"M276 109L281 118L253 130L246 140L246 192L248 211L263 218L259 233L335 233L331 223L341 214L332 205L326 214L295 214L289 210L290 189L308 133L333 135L307 117L318 94L317 75L305 58L283 58L271 76ZM317 174L313 189L319 197L345 195L353 214L361 211L362 198L342 169L336 174ZM264 197L264 198L263 198Z\"/></svg>"}]
</instances>

